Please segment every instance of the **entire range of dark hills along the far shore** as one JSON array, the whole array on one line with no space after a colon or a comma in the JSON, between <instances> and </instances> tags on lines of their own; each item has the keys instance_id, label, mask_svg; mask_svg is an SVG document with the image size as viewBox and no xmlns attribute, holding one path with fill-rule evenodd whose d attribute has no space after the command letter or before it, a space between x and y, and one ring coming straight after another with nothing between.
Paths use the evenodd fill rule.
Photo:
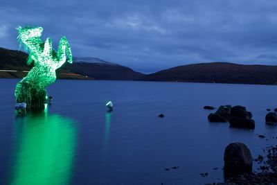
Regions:
<instances>
[{"instance_id":1,"label":"entire range of dark hills along the far shore","mask_svg":"<svg viewBox=\"0 0 277 185\"><path fill-rule=\"evenodd\" d=\"M0 48L0 78L26 76L26 71L32 67L27 66L27 57L24 52ZM1 71L3 69L16 72ZM277 66L210 62L188 64L145 75L99 58L73 58L73 64L65 63L57 69L57 78L276 85Z\"/></svg>"}]
</instances>

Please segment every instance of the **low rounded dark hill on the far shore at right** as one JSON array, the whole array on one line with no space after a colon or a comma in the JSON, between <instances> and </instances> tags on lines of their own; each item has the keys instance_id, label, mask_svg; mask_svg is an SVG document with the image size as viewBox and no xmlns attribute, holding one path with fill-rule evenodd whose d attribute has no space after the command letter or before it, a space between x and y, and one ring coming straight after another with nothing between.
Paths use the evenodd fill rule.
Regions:
<instances>
[{"instance_id":1,"label":"low rounded dark hill on the far shore at right","mask_svg":"<svg viewBox=\"0 0 277 185\"><path fill-rule=\"evenodd\" d=\"M188 64L152 73L144 80L272 85L277 84L277 66L229 62Z\"/></svg>"}]
</instances>

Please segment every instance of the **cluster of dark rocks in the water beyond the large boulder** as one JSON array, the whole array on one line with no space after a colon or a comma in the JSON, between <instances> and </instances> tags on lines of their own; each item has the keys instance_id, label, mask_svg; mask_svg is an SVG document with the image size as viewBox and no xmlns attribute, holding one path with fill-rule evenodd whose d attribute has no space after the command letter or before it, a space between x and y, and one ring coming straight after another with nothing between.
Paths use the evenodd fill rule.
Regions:
<instances>
[{"instance_id":1,"label":"cluster of dark rocks in the water beyond the large boulder","mask_svg":"<svg viewBox=\"0 0 277 185\"><path fill-rule=\"evenodd\" d=\"M221 105L215 113L208 115L210 122L228 122L230 127L255 128L255 121L252 119L251 112L248 112L246 107L237 105Z\"/></svg>"}]
</instances>

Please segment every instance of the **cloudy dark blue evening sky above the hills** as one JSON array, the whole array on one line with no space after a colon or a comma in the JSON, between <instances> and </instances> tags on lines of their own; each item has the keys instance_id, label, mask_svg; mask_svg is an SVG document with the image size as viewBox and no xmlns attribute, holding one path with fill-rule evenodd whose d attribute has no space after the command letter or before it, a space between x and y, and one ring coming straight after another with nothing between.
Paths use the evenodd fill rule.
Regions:
<instances>
[{"instance_id":1,"label":"cloudy dark blue evening sky above the hills","mask_svg":"<svg viewBox=\"0 0 277 185\"><path fill-rule=\"evenodd\" d=\"M42 26L57 49L152 73L199 62L277 65L275 0L3 0L0 47Z\"/></svg>"}]
</instances>

